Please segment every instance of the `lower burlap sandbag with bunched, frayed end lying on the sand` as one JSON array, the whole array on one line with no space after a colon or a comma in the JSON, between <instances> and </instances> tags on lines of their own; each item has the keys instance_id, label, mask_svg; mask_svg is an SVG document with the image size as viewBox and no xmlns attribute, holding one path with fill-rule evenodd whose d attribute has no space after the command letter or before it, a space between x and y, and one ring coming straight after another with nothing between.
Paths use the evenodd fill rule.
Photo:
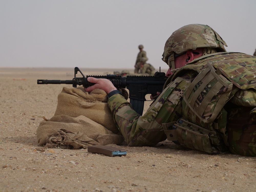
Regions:
<instances>
[{"instance_id":1,"label":"lower burlap sandbag with bunched, frayed end lying on the sand","mask_svg":"<svg viewBox=\"0 0 256 192\"><path fill-rule=\"evenodd\" d=\"M60 134L59 130L68 134ZM65 136L67 135L67 136ZM56 115L49 121L41 121L37 129L38 145L46 145L51 148L59 146L61 148L86 148L88 145L107 145L107 144L121 144L124 138L120 134L114 134L106 129L104 126L90 120L85 116L78 116L76 118L68 115ZM55 145L49 145L54 143ZM60 146L61 143L62 146ZM67 144L65 142L74 142ZM79 142L81 141L81 142ZM72 147L68 147L72 145ZM77 145L80 145L77 147Z\"/></svg>"}]
</instances>

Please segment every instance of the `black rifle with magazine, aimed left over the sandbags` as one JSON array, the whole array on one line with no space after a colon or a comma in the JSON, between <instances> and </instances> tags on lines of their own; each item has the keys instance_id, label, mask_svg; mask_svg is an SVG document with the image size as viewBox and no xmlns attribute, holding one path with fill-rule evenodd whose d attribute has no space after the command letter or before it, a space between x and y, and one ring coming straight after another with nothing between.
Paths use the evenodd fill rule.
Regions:
<instances>
[{"instance_id":1,"label":"black rifle with magazine, aimed left over the sandbags","mask_svg":"<svg viewBox=\"0 0 256 192\"><path fill-rule=\"evenodd\" d=\"M77 72L80 72L82 77L76 77ZM113 85L117 88L127 88L129 90L129 98L132 108L140 115L143 113L144 101L146 101L146 94L156 94L156 92L162 92L164 83L167 80L164 72L156 72L155 76L91 76L84 77L83 73L78 67L75 67L75 75L72 80L47 80L38 79L37 84L73 84L73 87L82 85L83 87L89 87L94 85L87 81L88 77L109 79Z\"/></svg>"}]
</instances>

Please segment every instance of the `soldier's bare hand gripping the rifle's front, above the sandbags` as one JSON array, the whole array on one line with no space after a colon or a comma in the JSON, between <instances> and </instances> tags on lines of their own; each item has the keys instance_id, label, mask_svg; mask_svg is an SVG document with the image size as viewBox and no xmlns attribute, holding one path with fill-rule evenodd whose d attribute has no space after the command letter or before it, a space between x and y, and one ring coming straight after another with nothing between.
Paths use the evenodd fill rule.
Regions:
<instances>
[{"instance_id":1,"label":"soldier's bare hand gripping the rifle's front, above the sandbags","mask_svg":"<svg viewBox=\"0 0 256 192\"><path fill-rule=\"evenodd\" d=\"M107 94L109 94L111 91L117 90L113 83L108 79L100 79L100 78L94 78L94 77L88 77L87 81L91 83L95 83L94 85L84 88L85 91L91 92L94 89L102 89Z\"/></svg>"}]
</instances>

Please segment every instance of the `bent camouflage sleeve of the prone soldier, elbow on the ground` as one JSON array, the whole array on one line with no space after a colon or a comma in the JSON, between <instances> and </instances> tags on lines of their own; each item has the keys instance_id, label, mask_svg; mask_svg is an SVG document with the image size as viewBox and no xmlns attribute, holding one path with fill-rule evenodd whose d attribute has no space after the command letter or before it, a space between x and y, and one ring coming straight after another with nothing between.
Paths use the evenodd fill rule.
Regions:
<instances>
[{"instance_id":1,"label":"bent camouflage sleeve of the prone soldier, elbow on the ground","mask_svg":"<svg viewBox=\"0 0 256 192\"><path fill-rule=\"evenodd\" d=\"M166 139L162 123L177 121L182 116L181 96L189 83L189 79L176 78L143 116L122 95L109 98L116 126L129 146L153 146Z\"/></svg>"}]
</instances>

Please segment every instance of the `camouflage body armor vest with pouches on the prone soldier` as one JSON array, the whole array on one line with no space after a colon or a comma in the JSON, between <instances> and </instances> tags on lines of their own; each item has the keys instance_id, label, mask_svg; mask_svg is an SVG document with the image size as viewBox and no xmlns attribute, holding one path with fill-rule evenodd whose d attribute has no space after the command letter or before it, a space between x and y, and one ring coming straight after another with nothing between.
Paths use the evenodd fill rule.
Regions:
<instances>
[{"instance_id":1,"label":"camouflage body armor vest with pouches on the prone soldier","mask_svg":"<svg viewBox=\"0 0 256 192\"><path fill-rule=\"evenodd\" d=\"M198 74L182 95L183 118L163 124L167 139L211 154L228 151L224 106L254 106L251 113L256 112L256 57L238 52L205 55L180 68L169 82L191 70Z\"/></svg>"}]
</instances>

